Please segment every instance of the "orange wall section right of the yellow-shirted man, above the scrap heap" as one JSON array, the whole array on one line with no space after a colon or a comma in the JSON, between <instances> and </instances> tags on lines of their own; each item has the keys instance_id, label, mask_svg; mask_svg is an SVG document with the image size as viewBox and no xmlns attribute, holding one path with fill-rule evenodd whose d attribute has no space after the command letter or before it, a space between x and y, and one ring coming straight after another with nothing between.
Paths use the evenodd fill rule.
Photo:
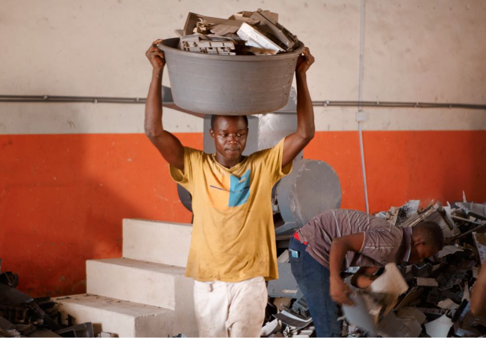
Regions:
<instances>
[{"instance_id":1,"label":"orange wall section right of the yellow-shirted man, above the scrap heap","mask_svg":"<svg viewBox=\"0 0 486 338\"><path fill-rule=\"evenodd\" d=\"M319 132L304 151L336 170L343 208L365 209L357 132ZM486 131L363 132L370 212L409 199L486 202Z\"/></svg>"}]
</instances>

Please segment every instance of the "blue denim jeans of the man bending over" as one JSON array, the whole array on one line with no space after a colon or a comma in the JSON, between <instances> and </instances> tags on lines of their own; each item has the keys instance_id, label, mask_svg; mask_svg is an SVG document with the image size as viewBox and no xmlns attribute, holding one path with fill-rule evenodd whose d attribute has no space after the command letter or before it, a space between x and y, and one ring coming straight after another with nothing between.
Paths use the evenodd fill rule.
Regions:
<instances>
[{"instance_id":1,"label":"blue denim jeans of the man bending over","mask_svg":"<svg viewBox=\"0 0 486 338\"><path fill-rule=\"evenodd\" d=\"M298 258L289 254L292 274L307 301L317 336L340 337L338 307L329 294L329 269L312 258L306 247L294 237L291 238L289 249L299 252Z\"/></svg>"}]
</instances>

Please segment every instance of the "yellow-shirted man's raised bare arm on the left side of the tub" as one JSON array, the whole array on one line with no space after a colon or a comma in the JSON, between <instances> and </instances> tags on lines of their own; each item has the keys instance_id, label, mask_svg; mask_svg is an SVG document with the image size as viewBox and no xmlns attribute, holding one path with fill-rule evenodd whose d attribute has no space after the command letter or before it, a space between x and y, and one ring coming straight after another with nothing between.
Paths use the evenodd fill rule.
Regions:
<instances>
[{"instance_id":1,"label":"yellow-shirted man's raised bare arm on the left side of the tub","mask_svg":"<svg viewBox=\"0 0 486 338\"><path fill-rule=\"evenodd\" d=\"M145 104L145 134L171 165L184 171L184 147L179 139L164 130L162 125L162 74L166 64L164 53L156 40L145 55L153 67L147 103Z\"/></svg>"}]
</instances>

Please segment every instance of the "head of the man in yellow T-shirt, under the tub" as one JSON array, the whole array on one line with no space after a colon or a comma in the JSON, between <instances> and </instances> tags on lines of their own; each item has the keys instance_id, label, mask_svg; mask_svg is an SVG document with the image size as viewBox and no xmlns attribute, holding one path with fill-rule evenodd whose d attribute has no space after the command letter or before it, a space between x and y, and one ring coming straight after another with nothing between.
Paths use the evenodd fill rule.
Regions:
<instances>
[{"instance_id":1,"label":"head of the man in yellow T-shirt, under the tub","mask_svg":"<svg viewBox=\"0 0 486 338\"><path fill-rule=\"evenodd\" d=\"M248 136L248 117L211 115L211 137L216 146L216 160L231 167L241 161Z\"/></svg>"}]
</instances>

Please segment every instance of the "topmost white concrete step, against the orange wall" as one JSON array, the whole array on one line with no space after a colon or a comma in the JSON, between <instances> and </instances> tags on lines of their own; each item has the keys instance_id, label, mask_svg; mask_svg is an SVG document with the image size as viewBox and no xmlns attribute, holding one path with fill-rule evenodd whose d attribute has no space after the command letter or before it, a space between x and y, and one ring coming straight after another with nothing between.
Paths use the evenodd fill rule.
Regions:
<instances>
[{"instance_id":1,"label":"topmost white concrete step, against the orange wall","mask_svg":"<svg viewBox=\"0 0 486 338\"><path fill-rule=\"evenodd\" d=\"M192 225L123 220L123 257L186 267Z\"/></svg>"}]
</instances>

